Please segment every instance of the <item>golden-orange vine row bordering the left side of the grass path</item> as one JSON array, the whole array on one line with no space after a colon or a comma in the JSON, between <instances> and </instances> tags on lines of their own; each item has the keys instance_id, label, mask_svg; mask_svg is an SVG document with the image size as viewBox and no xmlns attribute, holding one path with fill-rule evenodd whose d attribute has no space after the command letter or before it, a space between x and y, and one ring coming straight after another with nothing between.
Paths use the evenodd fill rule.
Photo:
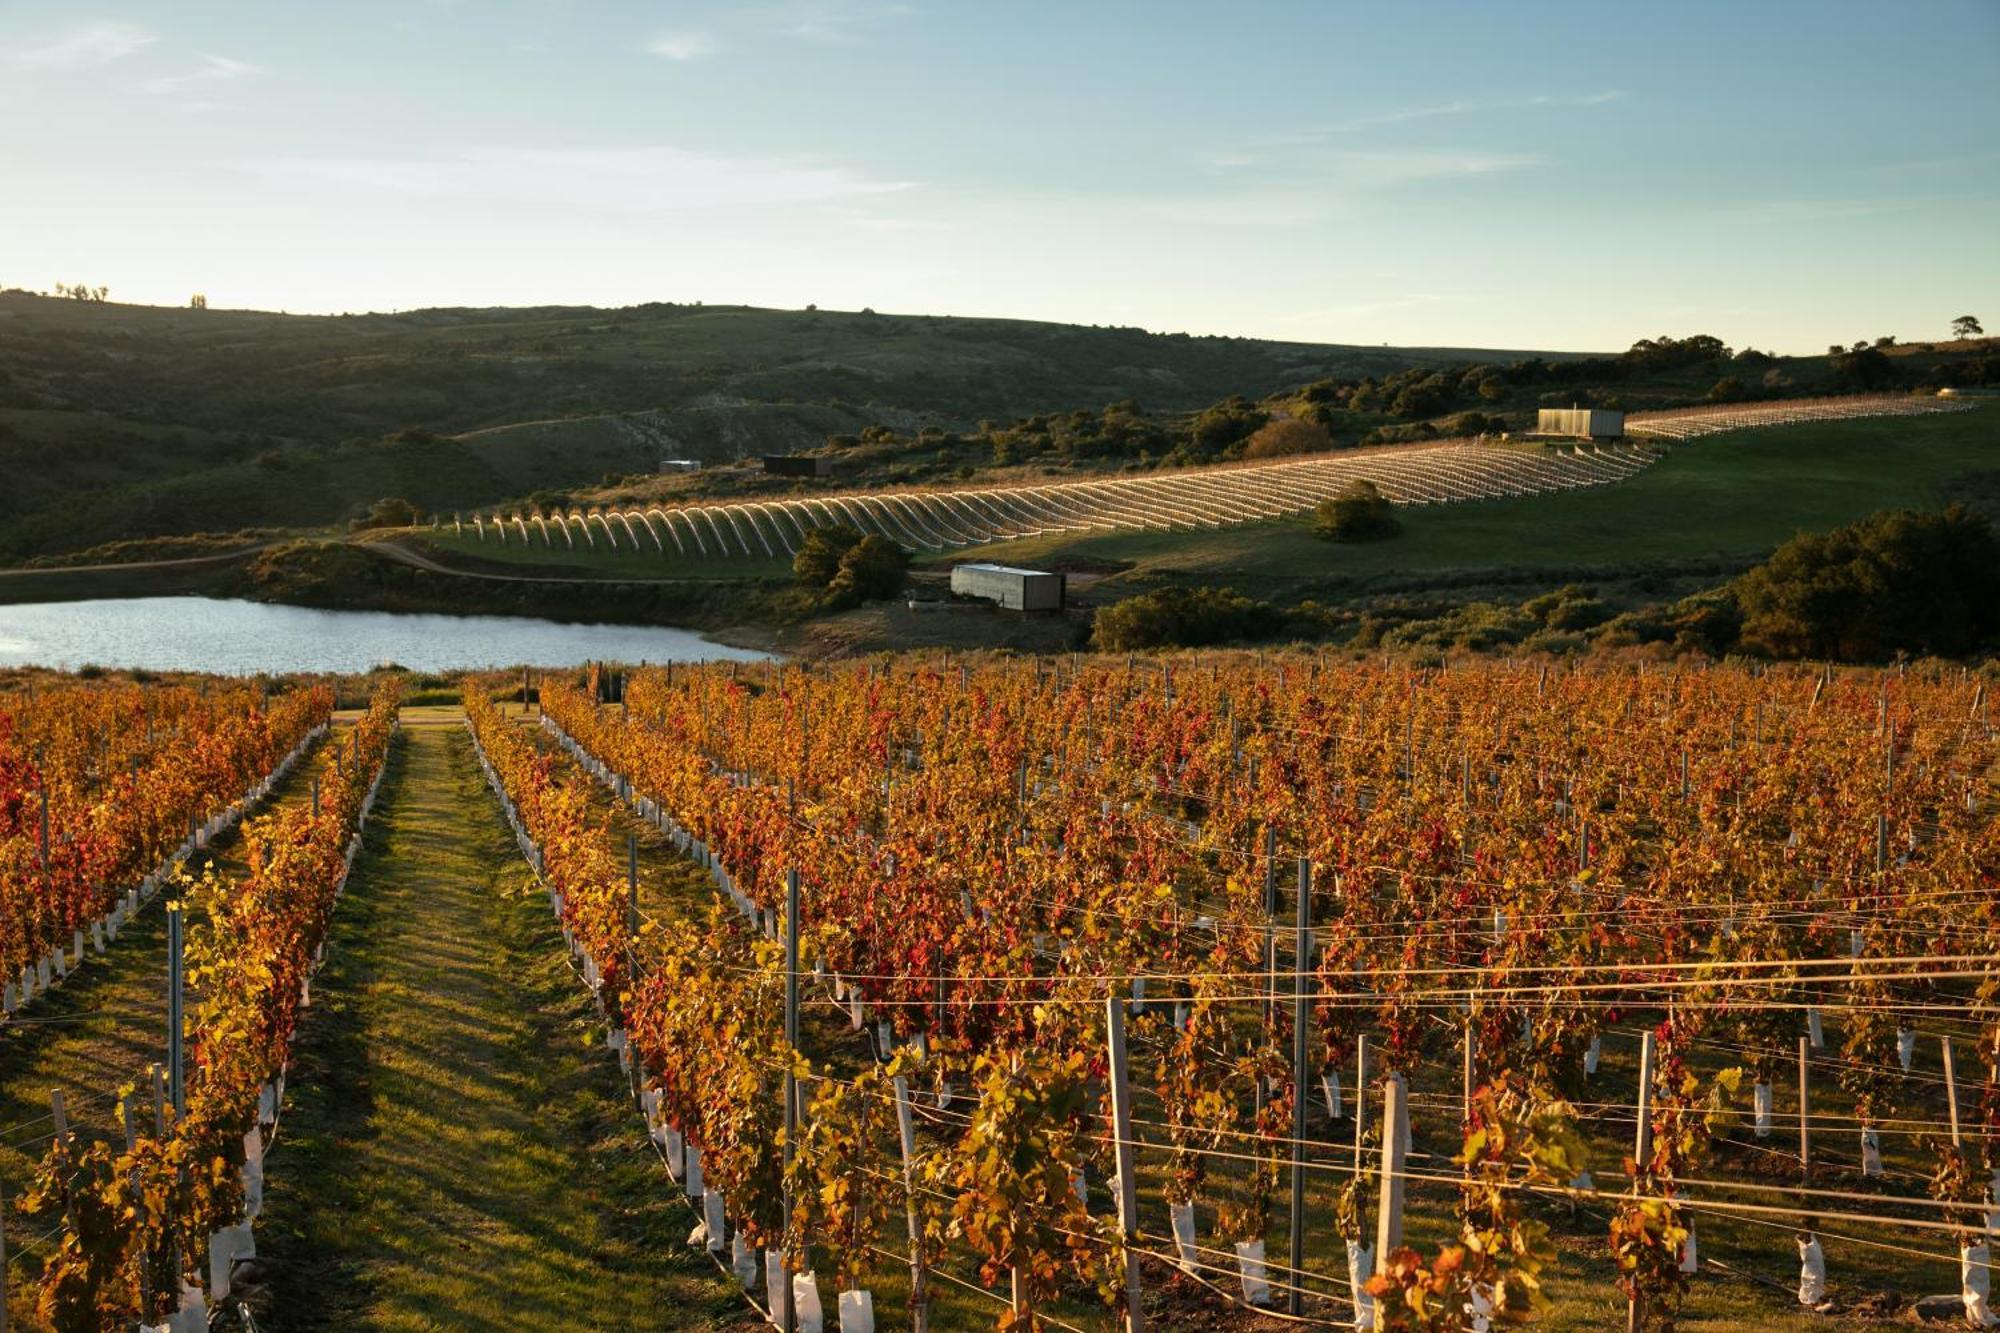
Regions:
<instances>
[{"instance_id":1,"label":"golden-orange vine row bordering the left side of the grass path","mask_svg":"<svg viewBox=\"0 0 2000 1333\"><path fill-rule=\"evenodd\" d=\"M304 697L306 717L322 729L330 693ZM292 1035L380 789L396 699L394 681L378 687L344 743L318 755L310 803L242 819L240 877L212 863L194 877L184 865L240 819L240 807L200 827L180 861L154 877L170 897L170 1001L166 1067L150 1079L152 1115L138 1091L112 1093L124 1137L108 1141L72 1131L76 1107L56 1093L50 1131L28 1141L46 1143L34 1185L0 1209L0 1227L14 1211L48 1227L36 1237L36 1249L46 1249L38 1313L52 1327L206 1329L210 1305L230 1297L236 1263L256 1255L264 1157L284 1105ZM178 745L188 747L190 735ZM42 1123L14 1129L40 1131Z\"/></svg>"}]
</instances>

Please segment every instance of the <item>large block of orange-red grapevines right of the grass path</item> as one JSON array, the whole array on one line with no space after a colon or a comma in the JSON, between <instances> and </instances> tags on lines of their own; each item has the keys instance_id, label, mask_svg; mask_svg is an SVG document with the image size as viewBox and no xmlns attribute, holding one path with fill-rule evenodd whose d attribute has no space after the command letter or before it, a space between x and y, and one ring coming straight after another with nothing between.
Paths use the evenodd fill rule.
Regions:
<instances>
[{"instance_id":1,"label":"large block of orange-red grapevines right of the grass path","mask_svg":"<svg viewBox=\"0 0 2000 1333\"><path fill-rule=\"evenodd\" d=\"M1300 1317L1484 1327L1532 1313L1552 1251L1530 1203L1560 1199L1610 1211L1648 1327L1702 1263L1698 1217L1794 1229L1802 1303L1828 1247L1912 1253L1954 1263L1990 1319L1996 749L1962 673L920 658L540 701L742 923L634 933L616 867L590 869L598 831L532 845L656 1141L702 1163L718 1247L726 1223L796 1273L814 1247L880 1253L888 1219L810 1207L874 1189L902 1197L918 1269L956 1245L1010 1281L1002 1323L1078 1285L1120 1305L1148 1255ZM802 967L774 945L788 927ZM842 1077L786 1039L802 969L886 1065ZM1130 1007L1128 1057L1106 1003ZM1612 1037L1638 1047L1634 1101L1586 1099ZM1114 1131L1126 1061L1142 1111ZM1794 1179L1732 1179L1780 1153L1792 1071ZM908 1115L916 1085L934 1147L900 1175L868 1103ZM1314 1091L1350 1133L1312 1131ZM780 1133L784 1107L808 1135ZM1618 1133L1626 1183L1598 1187L1586 1137ZM992 1179L982 1147L1006 1135L1038 1165ZM1164 1227L1082 1203L1124 1153ZM1304 1259L1300 1207L1288 1261L1266 1257L1280 1183L1302 1201L1312 1177L1342 1179L1346 1271ZM1406 1187L1460 1197L1430 1259L1402 1245ZM840 1265L858 1299L862 1265Z\"/></svg>"}]
</instances>

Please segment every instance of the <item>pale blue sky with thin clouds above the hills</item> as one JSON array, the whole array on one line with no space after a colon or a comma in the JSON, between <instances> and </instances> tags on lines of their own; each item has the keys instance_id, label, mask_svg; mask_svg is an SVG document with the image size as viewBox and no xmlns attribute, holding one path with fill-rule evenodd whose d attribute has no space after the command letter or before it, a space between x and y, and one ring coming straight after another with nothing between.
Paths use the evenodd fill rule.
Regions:
<instances>
[{"instance_id":1,"label":"pale blue sky with thin clouds above the hills","mask_svg":"<svg viewBox=\"0 0 2000 1333\"><path fill-rule=\"evenodd\" d=\"M2000 0L0 0L0 286L2000 330Z\"/></svg>"}]
</instances>

